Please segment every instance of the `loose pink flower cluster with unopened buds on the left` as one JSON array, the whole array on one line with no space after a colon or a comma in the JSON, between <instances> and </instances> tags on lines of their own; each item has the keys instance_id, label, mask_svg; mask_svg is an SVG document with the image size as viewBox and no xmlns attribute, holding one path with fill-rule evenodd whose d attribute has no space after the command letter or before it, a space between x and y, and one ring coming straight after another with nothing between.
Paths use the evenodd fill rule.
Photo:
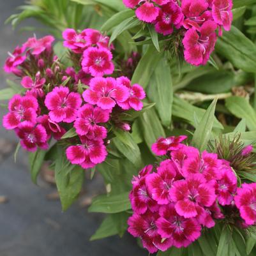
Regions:
<instances>
[{"instance_id":1,"label":"loose pink flower cluster with unopened buds on the left","mask_svg":"<svg viewBox=\"0 0 256 256\"><path fill-rule=\"evenodd\" d=\"M27 151L48 149L51 138L63 140L72 164L92 168L107 156L112 126L130 130L118 115L141 110L146 94L128 77L103 77L114 72L109 37L66 29L63 38L72 66L54 56L52 36L29 38L10 54L4 70L20 77L23 91L11 98L3 126L15 130ZM62 139L68 130L75 135Z\"/></svg>"}]
</instances>

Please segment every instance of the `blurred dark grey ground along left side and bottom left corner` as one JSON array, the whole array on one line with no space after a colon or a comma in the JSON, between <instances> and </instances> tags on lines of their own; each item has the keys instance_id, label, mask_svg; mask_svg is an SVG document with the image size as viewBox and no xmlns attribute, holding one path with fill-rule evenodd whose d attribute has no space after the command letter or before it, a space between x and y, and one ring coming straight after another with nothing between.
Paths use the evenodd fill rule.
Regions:
<instances>
[{"instance_id":1,"label":"blurred dark grey ground along left side and bottom left corner","mask_svg":"<svg viewBox=\"0 0 256 256\"><path fill-rule=\"evenodd\" d=\"M34 26L34 20L26 20L15 31L10 24L4 24L21 4L24 0L0 1L1 89L6 87L6 79L12 78L2 68L8 51L12 52L16 45L22 45L33 36L32 32L20 29L22 26ZM36 33L38 37L43 35L42 31ZM87 213L91 198L104 192L101 177L96 175L93 181L88 178L77 203L62 213L47 165L43 167L43 175L36 186L31 181L27 156L22 149L17 155L17 162L14 162L17 140L13 132L7 132L2 126L5 113L6 109L1 105L0 256L147 255L128 234L123 239L114 236L90 242L89 238L103 219L102 215Z\"/></svg>"}]
</instances>

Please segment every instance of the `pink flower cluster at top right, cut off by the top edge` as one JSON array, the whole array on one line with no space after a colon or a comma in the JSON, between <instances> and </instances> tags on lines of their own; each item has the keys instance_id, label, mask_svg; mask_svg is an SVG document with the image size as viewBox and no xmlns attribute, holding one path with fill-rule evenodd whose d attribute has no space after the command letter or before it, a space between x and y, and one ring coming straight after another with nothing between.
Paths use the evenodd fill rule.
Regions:
<instances>
[{"instance_id":1,"label":"pink flower cluster at top right, cut off by the top edge","mask_svg":"<svg viewBox=\"0 0 256 256\"><path fill-rule=\"evenodd\" d=\"M154 25L164 36L174 29L184 34L185 60L193 65L206 64L215 49L218 34L229 31L232 23L232 0L123 0L135 8L139 20Z\"/></svg>"}]
</instances>

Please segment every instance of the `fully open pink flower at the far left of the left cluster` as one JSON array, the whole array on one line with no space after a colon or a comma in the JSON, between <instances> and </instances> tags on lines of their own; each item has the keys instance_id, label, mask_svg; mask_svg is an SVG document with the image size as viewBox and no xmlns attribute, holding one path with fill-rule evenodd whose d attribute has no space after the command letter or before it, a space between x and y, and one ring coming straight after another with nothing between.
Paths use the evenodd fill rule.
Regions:
<instances>
[{"instance_id":1,"label":"fully open pink flower at the far left of the left cluster","mask_svg":"<svg viewBox=\"0 0 256 256\"><path fill-rule=\"evenodd\" d=\"M36 123L38 102L33 96L14 95L9 102L8 109L10 112L3 117L4 128L12 130L24 121Z\"/></svg>"}]
</instances>

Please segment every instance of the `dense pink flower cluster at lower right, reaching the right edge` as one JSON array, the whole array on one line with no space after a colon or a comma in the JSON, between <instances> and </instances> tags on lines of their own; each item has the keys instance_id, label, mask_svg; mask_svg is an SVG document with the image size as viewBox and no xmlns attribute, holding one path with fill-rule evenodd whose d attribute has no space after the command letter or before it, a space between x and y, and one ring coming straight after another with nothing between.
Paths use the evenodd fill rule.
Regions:
<instances>
[{"instance_id":1,"label":"dense pink flower cluster at lower right, reaching the right edge","mask_svg":"<svg viewBox=\"0 0 256 256\"><path fill-rule=\"evenodd\" d=\"M132 181L128 232L140 237L150 253L190 245L203 227L227 220L227 212L238 215L241 227L256 223L256 184L237 188L229 162L182 144L184 139L158 139L152 150L167 159L146 166Z\"/></svg>"}]
</instances>

